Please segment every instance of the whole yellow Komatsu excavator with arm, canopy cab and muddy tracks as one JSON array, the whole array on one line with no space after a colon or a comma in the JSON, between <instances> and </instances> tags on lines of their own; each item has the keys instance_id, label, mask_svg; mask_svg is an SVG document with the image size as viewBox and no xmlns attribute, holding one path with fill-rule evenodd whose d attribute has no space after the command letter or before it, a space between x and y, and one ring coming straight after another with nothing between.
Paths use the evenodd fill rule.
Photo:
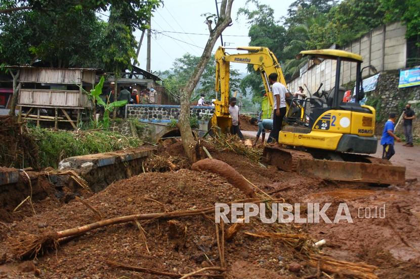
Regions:
<instances>
[{"instance_id":1,"label":"whole yellow Komatsu excavator with arm, canopy cab and muddy tracks","mask_svg":"<svg viewBox=\"0 0 420 279\"><path fill-rule=\"evenodd\" d=\"M227 49L246 51L229 54ZM279 133L283 147L266 146L263 159L284 171L317 176L327 180L365 182L373 184L404 184L405 166L395 166L389 161L368 156L377 148L375 109L360 105L364 96L361 64L358 54L337 49L301 51L297 58L308 57L314 64L323 60L335 60L335 84L329 91L318 91L303 102L289 97L287 113ZM216 58L215 113L208 129L228 133L231 126L229 115L229 65L243 63L254 65L260 72L270 105L273 95L268 76L276 73L279 82L286 82L280 65L267 47L225 48L220 46ZM356 63L356 102L344 103L344 89L340 87L341 63Z\"/></svg>"}]
</instances>

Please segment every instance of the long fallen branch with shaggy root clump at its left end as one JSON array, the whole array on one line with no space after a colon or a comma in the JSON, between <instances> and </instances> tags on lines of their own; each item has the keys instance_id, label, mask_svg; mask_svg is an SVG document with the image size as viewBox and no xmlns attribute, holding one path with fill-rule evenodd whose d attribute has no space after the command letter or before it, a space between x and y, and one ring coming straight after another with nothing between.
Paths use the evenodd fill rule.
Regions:
<instances>
[{"instance_id":1,"label":"long fallen branch with shaggy root clump at its left end","mask_svg":"<svg viewBox=\"0 0 420 279\"><path fill-rule=\"evenodd\" d=\"M262 199L244 199L239 201L234 201L228 203L231 205L235 202L267 202L268 200ZM270 200L275 202L275 200ZM36 256L39 252L44 252L49 248L57 248L58 241L62 238L67 238L75 235L81 235L86 232L110 226L116 224L122 224L127 222L133 222L136 220L151 220L151 219L160 219L160 218L178 218L178 217L190 217L196 215L202 215L203 213L212 213L215 212L215 207L207 207L202 209L196 210L180 210L180 211L173 211L173 212L161 212L161 213L146 213L146 214L134 214L134 215L127 215L127 216L120 216L115 218L104 219L100 221L96 221L94 223L71 228L64 231L59 232L50 232L40 236L35 236L31 234L20 234L16 238L12 239L9 248L11 252L17 257L31 257Z\"/></svg>"}]
</instances>

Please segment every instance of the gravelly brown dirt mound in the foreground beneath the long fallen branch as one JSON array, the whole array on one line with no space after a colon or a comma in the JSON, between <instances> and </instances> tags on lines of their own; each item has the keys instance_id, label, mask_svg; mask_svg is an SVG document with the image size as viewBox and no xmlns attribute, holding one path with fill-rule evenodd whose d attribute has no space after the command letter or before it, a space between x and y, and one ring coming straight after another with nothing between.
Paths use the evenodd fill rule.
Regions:
<instances>
[{"instance_id":1,"label":"gravelly brown dirt mound in the foreground beneath the long fallen branch","mask_svg":"<svg viewBox=\"0 0 420 279\"><path fill-rule=\"evenodd\" d=\"M229 202L247 198L237 188L218 175L180 170L168 173L146 173L118 181L86 201L106 218L135 213L153 213L214 206L215 202ZM95 221L94 213L78 201L71 201L61 208L25 218L7 232L8 240L17 232L39 234L58 231ZM174 225L175 224L175 225ZM182 232L174 234L175 230ZM253 222L244 230L262 230L263 225ZM203 266L219 265L219 252L215 236L214 220L205 216L171 220L150 220L142 223L147 252L139 228L134 224L115 225L98 229L78 237L52 251L51 255L38 257L35 268L44 278L86 277L99 278L133 277L133 271L115 269L106 261L143 266L166 272L187 273ZM178 228L178 229L177 229ZM1 251L9 253L5 243ZM227 242L227 265L238 259L246 259L256 270L265 268L273 273L288 274L286 260L292 258L293 250L268 239L248 238L238 234ZM10 265L6 265L10 268ZM250 268L253 278L265 278L259 270ZM22 272L15 270L20 278ZM137 273L138 274L138 273ZM266 273L264 273L266 274ZM302 273L304 274L304 273ZM261 276L260 276L261 275ZM297 276L290 273L290 278ZM142 274L145 278L162 278L160 275Z\"/></svg>"}]
</instances>

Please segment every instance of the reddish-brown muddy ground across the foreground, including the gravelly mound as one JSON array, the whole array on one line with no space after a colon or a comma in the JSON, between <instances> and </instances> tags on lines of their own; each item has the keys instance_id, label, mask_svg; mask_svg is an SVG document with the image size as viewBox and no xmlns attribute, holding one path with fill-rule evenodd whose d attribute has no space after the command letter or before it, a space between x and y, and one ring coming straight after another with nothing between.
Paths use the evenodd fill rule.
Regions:
<instances>
[{"instance_id":1,"label":"reddish-brown muddy ground across the foreground, including the gravelly mound","mask_svg":"<svg viewBox=\"0 0 420 279\"><path fill-rule=\"evenodd\" d=\"M179 143L171 143L159 151L161 156L178 158L183 154L181 148ZM250 238L243 234L245 231L273 231L274 228L288 232L293 226L314 241L325 239L326 244L321 251L326 255L377 266L379 278L420 277L418 182L388 188L326 182L278 171L271 166L264 168L234 153L214 149L210 152L214 158L233 166L272 197L282 198L290 204L303 203L303 217L307 217L307 204L315 202L320 202L321 207L331 203L326 211L330 219L334 219L340 203L348 205L352 216L352 222L326 224L321 220L319 224L283 224L279 227L263 225L255 220L246 225L232 242L226 243L227 278L305 278L316 275L316 268L308 265L299 252L283 242ZM184 168L189 166L185 160L173 161L182 162ZM153 165L150 162L146 168L156 170ZM169 167L163 169L170 170ZM243 193L216 174L181 169L145 173L117 181L102 192L86 197L86 201L103 217L109 218L193 210L213 206L215 202L243 198L246 198ZM184 217L175 222L152 220L142 223L150 252L147 252L139 228L128 223L94 230L62 244L57 250L39 255L35 260L16 260L9 245L21 232L42 234L97 220L90 209L76 200L59 204L54 197L47 197L34 206L36 215L14 222L2 220L0 223L0 261L3 263L0 265L0 277L167 278L113 268L107 261L174 273L188 273L212 264L219 265L220 262L214 220L204 216ZM173 233L174 226L178 233ZM299 268L293 268L296 266ZM337 274L331 276L340 277ZM320 278L327 277L321 274Z\"/></svg>"}]
</instances>

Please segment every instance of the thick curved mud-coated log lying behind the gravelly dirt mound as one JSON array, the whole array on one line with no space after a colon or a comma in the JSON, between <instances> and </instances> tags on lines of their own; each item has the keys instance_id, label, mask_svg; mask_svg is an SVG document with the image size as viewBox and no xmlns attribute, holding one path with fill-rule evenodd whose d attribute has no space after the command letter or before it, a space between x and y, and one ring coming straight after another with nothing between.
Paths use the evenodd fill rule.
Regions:
<instances>
[{"instance_id":1,"label":"thick curved mud-coated log lying behind the gravelly dirt mound","mask_svg":"<svg viewBox=\"0 0 420 279\"><path fill-rule=\"evenodd\" d=\"M234 187L241 190L248 197L256 197L252 186L246 181L246 179L233 169L232 166L223 161L206 158L193 163L191 169L193 171L208 171L218 174L224 177Z\"/></svg>"}]
</instances>

